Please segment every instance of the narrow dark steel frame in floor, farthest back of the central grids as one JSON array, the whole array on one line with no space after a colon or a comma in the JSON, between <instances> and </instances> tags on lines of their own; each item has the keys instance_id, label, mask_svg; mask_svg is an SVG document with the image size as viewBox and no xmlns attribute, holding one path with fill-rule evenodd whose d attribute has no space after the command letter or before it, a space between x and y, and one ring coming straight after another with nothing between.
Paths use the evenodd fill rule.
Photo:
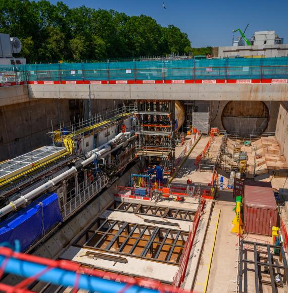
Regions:
<instances>
[{"instance_id":1,"label":"narrow dark steel frame in floor, farthest back of the central grids","mask_svg":"<svg viewBox=\"0 0 288 293\"><path fill-rule=\"evenodd\" d=\"M165 217L168 219L179 219L183 221L193 221L196 211L183 209L172 209L167 207L156 207L150 205L133 204L125 202L114 202L114 210L126 213L137 213L155 217Z\"/></svg>"}]
</instances>

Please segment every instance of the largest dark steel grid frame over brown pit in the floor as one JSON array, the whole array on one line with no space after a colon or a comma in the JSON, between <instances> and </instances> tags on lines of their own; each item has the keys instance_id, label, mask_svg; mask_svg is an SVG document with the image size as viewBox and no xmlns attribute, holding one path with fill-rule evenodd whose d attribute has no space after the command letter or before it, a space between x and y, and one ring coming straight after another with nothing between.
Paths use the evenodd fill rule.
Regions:
<instances>
[{"instance_id":1,"label":"largest dark steel grid frame over brown pit in the floor","mask_svg":"<svg viewBox=\"0 0 288 293\"><path fill-rule=\"evenodd\" d=\"M98 218L77 238L73 246L179 265L188 234L168 227ZM161 252L162 259L159 257Z\"/></svg>"}]
</instances>

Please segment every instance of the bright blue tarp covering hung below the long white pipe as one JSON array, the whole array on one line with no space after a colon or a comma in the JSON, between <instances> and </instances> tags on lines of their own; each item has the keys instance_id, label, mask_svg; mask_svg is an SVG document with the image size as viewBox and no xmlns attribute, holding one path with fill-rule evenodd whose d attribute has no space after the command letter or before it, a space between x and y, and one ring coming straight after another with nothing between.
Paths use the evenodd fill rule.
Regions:
<instances>
[{"instance_id":1,"label":"bright blue tarp covering hung below the long white pipe","mask_svg":"<svg viewBox=\"0 0 288 293\"><path fill-rule=\"evenodd\" d=\"M45 194L18 213L0 224L0 242L21 242L21 251L27 250L33 242L62 222L56 193Z\"/></svg>"}]
</instances>

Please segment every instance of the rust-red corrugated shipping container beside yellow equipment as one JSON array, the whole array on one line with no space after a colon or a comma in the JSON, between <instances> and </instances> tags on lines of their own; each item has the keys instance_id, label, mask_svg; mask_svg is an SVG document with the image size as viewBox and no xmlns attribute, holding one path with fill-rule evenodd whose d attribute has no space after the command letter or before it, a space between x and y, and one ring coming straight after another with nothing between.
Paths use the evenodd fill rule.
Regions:
<instances>
[{"instance_id":1,"label":"rust-red corrugated shipping container beside yellow equipment","mask_svg":"<svg viewBox=\"0 0 288 293\"><path fill-rule=\"evenodd\" d=\"M272 226L277 226L277 218L277 205L271 183L246 180L244 231L271 236Z\"/></svg>"}]
</instances>

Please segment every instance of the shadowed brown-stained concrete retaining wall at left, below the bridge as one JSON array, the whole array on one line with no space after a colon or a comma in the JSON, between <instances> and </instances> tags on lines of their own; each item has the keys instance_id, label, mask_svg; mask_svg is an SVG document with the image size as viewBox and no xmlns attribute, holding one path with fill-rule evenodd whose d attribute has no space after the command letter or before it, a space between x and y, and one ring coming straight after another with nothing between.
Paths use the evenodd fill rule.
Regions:
<instances>
[{"instance_id":1,"label":"shadowed brown-stained concrete retaining wall at left, below the bridge","mask_svg":"<svg viewBox=\"0 0 288 293\"><path fill-rule=\"evenodd\" d=\"M11 87L16 88L17 86ZM8 87L7 87L8 88ZM1 92L2 88L0 88ZM75 101L75 100L74 100ZM23 155L40 146L51 144L47 132L69 126L80 115L81 106L73 100L30 99L23 103L0 107L0 161ZM117 101L118 103L122 101ZM112 109L114 101L93 100L92 115Z\"/></svg>"}]
</instances>

